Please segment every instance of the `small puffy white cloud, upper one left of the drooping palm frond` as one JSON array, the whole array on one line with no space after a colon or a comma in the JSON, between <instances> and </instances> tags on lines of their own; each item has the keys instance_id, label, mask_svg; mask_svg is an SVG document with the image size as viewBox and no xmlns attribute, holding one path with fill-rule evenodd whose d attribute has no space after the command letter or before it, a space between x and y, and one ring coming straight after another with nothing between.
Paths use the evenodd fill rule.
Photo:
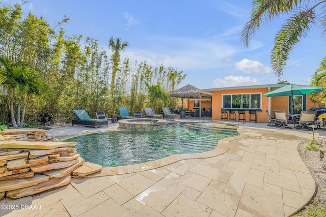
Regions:
<instances>
[{"instance_id":1,"label":"small puffy white cloud, upper one left of the drooping palm frond","mask_svg":"<svg viewBox=\"0 0 326 217\"><path fill-rule=\"evenodd\" d=\"M248 75L262 75L272 73L273 70L270 67L265 67L259 61L250 59L242 59L241 61L234 64L235 70L241 71Z\"/></svg>"}]
</instances>

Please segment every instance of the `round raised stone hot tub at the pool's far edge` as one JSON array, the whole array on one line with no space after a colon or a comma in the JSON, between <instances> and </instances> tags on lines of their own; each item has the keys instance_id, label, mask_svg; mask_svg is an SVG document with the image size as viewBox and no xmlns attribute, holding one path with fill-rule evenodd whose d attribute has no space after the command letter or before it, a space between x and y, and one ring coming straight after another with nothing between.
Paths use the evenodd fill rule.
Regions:
<instances>
[{"instance_id":1,"label":"round raised stone hot tub at the pool's far edge","mask_svg":"<svg viewBox=\"0 0 326 217\"><path fill-rule=\"evenodd\" d=\"M119 128L125 130L159 130L166 127L164 119L140 118L119 120Z\"/></svg>"}]
</instances>

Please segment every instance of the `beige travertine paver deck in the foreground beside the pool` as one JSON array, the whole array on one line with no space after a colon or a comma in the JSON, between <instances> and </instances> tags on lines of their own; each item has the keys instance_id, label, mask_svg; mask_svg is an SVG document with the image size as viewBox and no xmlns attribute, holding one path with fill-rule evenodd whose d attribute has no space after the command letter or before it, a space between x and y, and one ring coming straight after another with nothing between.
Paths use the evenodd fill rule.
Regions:
<instances>
[{"instance_id":1,"label":"beige travertine paver deck in the foreground beside the pool","mask_svg":"<svg viewBox=\"0 0 326 217\"><path fill-rule=\"evenodd\" d=\"M198 159L172 156L162 164L177 162L165 166L105 168L98 177L74 179L64 188L5 198L0 207L32 206L0 209L0 215L288 216L308 203L315 182L297 146L312 139L311 132L248 126L238 131L239 136L221 140ZM150 167L157 168L135 171ZM128 173L108 175L117 170Z\"/></svg>"}]
</instances>

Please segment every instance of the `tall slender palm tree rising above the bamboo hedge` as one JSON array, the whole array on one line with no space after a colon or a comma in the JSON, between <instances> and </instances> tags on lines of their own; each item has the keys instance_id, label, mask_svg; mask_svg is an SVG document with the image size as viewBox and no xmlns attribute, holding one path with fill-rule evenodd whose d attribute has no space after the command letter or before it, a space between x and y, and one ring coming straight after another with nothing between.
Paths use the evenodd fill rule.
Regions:
<instances>
[{"instance_id":1,"label":"tall slender palm tree rising above the bamboo hedge","mask_svg":"<svg viewBox=\"0 0 326 217\"><path fill-rule=\"evenodd\" d=\"M112 77L111 77L111 87L110 87L110 95L111 99L113 98L113 91L115 86L116 74L119 69L120 63L120 51L124 51L124 49L128 46L128 42L122 42L120 38L114 39L111 37L108 40L108 47L112 49L111 60L113 61L113 69L112 69Z\"/></svg>"}]
</instances>

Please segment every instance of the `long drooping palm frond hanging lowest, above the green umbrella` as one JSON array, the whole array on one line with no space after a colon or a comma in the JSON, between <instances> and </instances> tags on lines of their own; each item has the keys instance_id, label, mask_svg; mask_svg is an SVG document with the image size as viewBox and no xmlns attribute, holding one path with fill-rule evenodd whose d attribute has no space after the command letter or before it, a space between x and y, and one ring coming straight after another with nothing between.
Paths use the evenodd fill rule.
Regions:
<instances>
[{"instance_id":1,"label":"long drooping palm frond hanging lowest, above the green umbrella","mask_svg":"<svg viewBox=\"0 0 326 217\"><path fill-rule=\"evenodd\" d=\"M315 24L315 12L307 9L294 14L276 34L271 51L271 65L276 76L283 75L289 52L301 38L306 37L311 24Z\"/></svg>"}]
</instances>

